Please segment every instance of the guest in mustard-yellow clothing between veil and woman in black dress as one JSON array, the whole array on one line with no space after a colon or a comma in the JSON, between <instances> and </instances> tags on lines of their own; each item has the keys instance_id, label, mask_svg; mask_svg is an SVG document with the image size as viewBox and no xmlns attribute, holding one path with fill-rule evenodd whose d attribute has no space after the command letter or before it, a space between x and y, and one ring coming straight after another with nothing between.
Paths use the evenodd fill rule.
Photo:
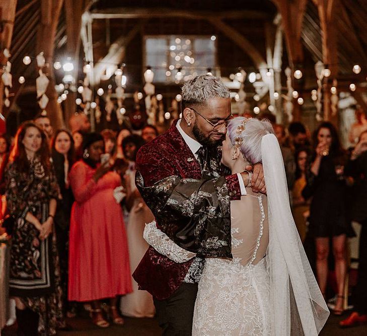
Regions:
<instances>
[{"instance_id":1,"label":"guest in mustard-yellow clothing between veil and woman in black dress","mask_svg":"<svg viewBox=\"0 0 367 336\"><path fill-rule=\"evenodd\" d=\"M310 157L310 151L307 147L299 148L295 154L296 161L296 181L292 189L293 197L293 218L295 219L298 233L301 241L304 242L307 231L307 217L310 213L310 204L302 196L302 190L305 188L306 181L306 165Z\"/></svg>"}]
</instances>

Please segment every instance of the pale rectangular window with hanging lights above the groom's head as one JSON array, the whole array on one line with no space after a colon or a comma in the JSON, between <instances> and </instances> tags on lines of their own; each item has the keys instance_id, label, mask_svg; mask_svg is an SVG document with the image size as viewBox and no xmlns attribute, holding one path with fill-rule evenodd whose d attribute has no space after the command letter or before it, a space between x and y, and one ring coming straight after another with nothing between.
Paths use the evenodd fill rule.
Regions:
<instances>
[{"instance_id":1,"label":"pale rectangular window with hanging lights above the groom's head","mask_svg":"<svg viewBox=\"0 0 367 336\"><path fill-rule=\"evenodd\" d=\"M151 66L154 83L179 84L210 69L220 76L214 36L145 36L144 65Z\"/></svg>"}]
</instances>

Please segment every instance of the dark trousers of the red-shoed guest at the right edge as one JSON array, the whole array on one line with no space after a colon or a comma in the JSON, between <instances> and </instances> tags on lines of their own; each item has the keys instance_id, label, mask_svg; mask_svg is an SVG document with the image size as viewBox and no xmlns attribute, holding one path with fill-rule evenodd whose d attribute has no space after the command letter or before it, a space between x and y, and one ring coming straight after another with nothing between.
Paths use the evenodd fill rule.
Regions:
<instances>
[{"instance_id":1,"label":"dark trousers of the red-shoed guest at the right edge","mask_svg":"<svg viewBox=\"0 0 367 336\"><path fill-rule=\"evenodd\" d=\"M361 224L355 310L360 314L367 314L367 220Z\"/></svg>"}]
</instances>

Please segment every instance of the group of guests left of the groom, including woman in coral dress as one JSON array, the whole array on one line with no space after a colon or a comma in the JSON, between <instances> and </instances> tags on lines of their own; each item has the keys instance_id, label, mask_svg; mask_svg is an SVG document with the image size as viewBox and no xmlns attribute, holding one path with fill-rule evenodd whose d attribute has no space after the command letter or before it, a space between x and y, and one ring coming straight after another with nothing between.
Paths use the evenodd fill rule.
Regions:
<instances>
[{"instance_id":1,"label":"group of guests left of the groom, including woman in coral dress","mask_svg":"<svg viewBox=\"0 0 367 336\"><path fill-rule=\"evenodd\" d=\"M90 132L84 114L70 119L70 129L54 130L40 114L20 125L13 146L0 136L0 230L12 237L9 291L19 334L55 334L80 307L102 328L124 324L121 311L155 315L130 270L148 248L142 232L153 220L135 187L136 153L158 131Z\"/></svg>"}]
</instances>

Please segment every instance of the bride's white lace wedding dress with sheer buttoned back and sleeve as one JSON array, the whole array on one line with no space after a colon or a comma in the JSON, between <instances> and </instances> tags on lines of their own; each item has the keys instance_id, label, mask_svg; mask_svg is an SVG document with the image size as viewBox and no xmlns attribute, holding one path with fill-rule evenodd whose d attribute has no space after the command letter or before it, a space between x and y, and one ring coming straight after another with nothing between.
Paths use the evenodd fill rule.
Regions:
<instances>
[{"instance_id":1,"label":"bride's white lace wedding dress with sheer buttoned back and sleeve","mask_svg":"<svg viewBox=\"0 0 367 336\"><path fill-rule=\"evenodd\" d=\"M269 235L266 196L246 188L247 195L231 202L233 259L206 258L199 282L193 335L270 335ZM144 238L176 262L195 254L159 231L146 226Z\"/></svg>"}]
</instances>

